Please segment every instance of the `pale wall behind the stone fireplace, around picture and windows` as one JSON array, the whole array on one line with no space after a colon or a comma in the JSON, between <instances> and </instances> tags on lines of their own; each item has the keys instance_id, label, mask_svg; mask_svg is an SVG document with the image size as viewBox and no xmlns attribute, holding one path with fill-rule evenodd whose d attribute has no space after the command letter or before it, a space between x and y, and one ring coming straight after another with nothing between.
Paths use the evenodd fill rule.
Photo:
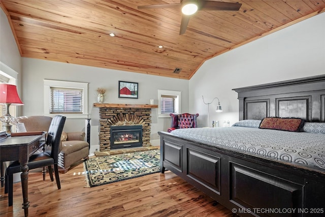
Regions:
<instances>
[{"instance_id":1,"label":"pale wall behind the stone fireplace, around picture and windows","mask_svg":"<svg viewBox=\"0 0 325 217\"><path fill-rule=\"evenodd\" d=\"M99 147L99 108L97 103L98 87L106 88L104 103L149 104L150 99L158 103L157 89L179 90L182 92L182 112L188 112L188 81L160 76L131 73L110 69L59 63L49 60L22 58L22 100L23 115L43 114L43 80L65 80L88 82L88 113L91 118L91 148ZM118 98L118 81L139 83L139 99ZM157 109L152 109L151 141L158 140L158 131L167 131L170 127L169 118L158 118ZM96 129L94 132L94 128ZM85 119L67 119L64 131L85 131ZM97 132L97 133L96 133Z\"/></svg>"}]
</instances>

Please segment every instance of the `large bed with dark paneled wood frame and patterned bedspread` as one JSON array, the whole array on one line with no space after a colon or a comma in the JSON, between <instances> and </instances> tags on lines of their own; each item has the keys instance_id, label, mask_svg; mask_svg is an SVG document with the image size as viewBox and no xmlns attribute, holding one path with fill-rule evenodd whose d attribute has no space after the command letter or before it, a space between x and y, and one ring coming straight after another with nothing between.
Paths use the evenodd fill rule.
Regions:
<instances>
[{"instance_id":1,"label":"large bed with dark paneled wood frame and patterned bedspread","mask_svg":"<svg viewBox=\"0 0 325 217\"><path fill-rule=\"evenodd\" d=\"M233 90L232 127L158 132L161 173L240 216L325 216L325 75Z\"/></svg>"}]
</instances>

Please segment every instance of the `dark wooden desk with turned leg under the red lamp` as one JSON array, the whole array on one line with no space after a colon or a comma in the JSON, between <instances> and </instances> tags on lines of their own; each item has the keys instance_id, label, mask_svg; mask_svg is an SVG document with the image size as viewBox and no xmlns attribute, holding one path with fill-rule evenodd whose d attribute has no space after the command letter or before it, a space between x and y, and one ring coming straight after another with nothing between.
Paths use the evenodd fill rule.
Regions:
<instances>
[{"instance_id":1,"label":"dark wooden desk with turned leg under the red lamp","mask_svg":"<svg viewBox=\"0 0 325 217\"><path fill-rule=\"evenodd\" d=\"M21 165L21 188L23 209L28 216L28 160L38 149L45 145L45 132L37 136L8 137L0 141L0 159L4 161L19 161Z\"/></svg>"}]
</instances>

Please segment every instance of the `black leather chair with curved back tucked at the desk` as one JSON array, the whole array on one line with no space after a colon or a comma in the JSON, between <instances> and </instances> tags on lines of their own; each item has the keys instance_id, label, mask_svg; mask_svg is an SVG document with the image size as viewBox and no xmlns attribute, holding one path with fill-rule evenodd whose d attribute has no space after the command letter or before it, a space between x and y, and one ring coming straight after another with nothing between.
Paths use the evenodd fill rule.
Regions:
<instances>
[{"instance_id":1,"label":"black leather chair with curved back tucked at the desk","mask_svg":"<svg viewBox=\"0 0 325 217\"><path fill-rule=\"evenodd\" d=\"M28 169L36 169L41 167L48 167L51 181L53 181L52 165L54 167L54 174L57 189L61 189L59 171L58 171L58 154L60 138L66 122L66 117L62 115L56 115L51 121L48 135L46 138L46 144L43 152L33 154L28 161ZM13 174L20 172L20 164L18 161L14 161L8 165L5 174L5 193L8 193L8 205L13 204Z\"/></svg>"}]
</instances>

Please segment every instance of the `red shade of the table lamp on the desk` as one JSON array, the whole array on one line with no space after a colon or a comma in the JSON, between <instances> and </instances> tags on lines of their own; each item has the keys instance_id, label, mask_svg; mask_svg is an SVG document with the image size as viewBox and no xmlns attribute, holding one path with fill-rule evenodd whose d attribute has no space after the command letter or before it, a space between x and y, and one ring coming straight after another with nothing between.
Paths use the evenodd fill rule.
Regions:
<instances>
[{"instance_id":1,"label":"red shade of the table lamp on the desk","mask_svg":"<svg viewBox=\"0 0 325 217\"><path fill-rule=\"evenodd\" d=\"M0 84L0 103L24 105L18 96L17 86L12 84Z\"/></svg>"}]
</instances>

